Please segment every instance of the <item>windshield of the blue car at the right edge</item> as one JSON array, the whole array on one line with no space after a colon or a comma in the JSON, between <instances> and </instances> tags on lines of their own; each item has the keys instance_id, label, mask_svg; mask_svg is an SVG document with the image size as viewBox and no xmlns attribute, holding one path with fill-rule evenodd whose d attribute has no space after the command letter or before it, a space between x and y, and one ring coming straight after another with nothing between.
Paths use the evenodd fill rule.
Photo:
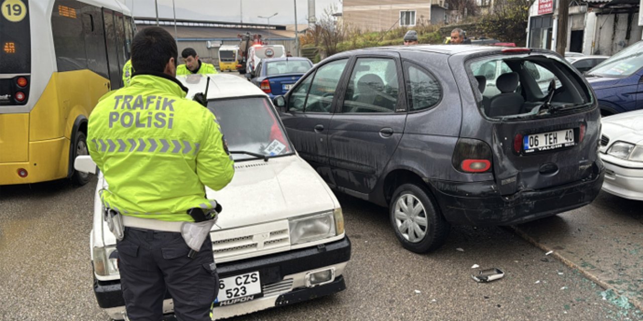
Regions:
<instances>
[{"instance_id":1,"label":"windshield of the blue car at the right edge","mask_svg":"<svg viewBox=\"0 0 643 321\"><path fill-rule=\"evenodd\" d=\"M588 72L590 76L626 77L643 67L643 41L622 49Z\"/></svg>"}]
</instances>

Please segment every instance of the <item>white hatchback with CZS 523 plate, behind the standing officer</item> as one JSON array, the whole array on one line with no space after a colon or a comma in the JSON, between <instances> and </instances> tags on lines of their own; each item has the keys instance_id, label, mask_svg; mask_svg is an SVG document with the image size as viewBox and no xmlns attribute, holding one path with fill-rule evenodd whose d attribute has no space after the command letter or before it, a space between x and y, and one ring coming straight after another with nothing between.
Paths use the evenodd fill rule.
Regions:
<instances>
[{"instance_id":1,"label":"white hatchback with CZS 523 plate, behind the standing officer","mask_svg":"<svg viewBox=\"0 0 643 321\"><path fill-rule=\"evenodd\" d=\"M295 152L267 95L244 78L211 75L208 108L217 116L235 159L235 175L221 191L206 189L223 211L210 236L221 279L213 319L228 318L331 295L346 288L350 259L338 200ZM206 77L177 77L204 92ZM75 167L95 172L89 156ZM101 173L94 200L91 261L98 305L123 319L116 239L102 218L98 191L109 188ZM246 277L251 284L237 284ZM215 289L213 289L214 291ZM168 293L164 313L172 313Z\"/></svg>"}]
</instances>

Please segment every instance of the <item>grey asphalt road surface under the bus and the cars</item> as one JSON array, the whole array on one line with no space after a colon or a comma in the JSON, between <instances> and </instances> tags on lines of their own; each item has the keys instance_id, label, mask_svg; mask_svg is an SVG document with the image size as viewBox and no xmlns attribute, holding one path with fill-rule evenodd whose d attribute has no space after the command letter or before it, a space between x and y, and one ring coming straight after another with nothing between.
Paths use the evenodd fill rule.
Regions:
<instances>
[{"instance_id":1,"label":"grey asphalt road surface under the bus and the cars","mask_svg":"<svg viewBox=\"0 0 643 321\"><path fill-rule=\"evenodd\" d=\"M0 320L108 319L91 288L94 190L95 180L84 187L66 181L0 187ZM607 220L602 225L619 226L623 211L640 207L610 206L620 201L601 195L595 204L553 218L553 225L568 221L560 232L579 237L586 226L577 230L579 223L567 217L600 209ZM601 286L511 229L454 227L444 247L418 255L397 243L385 209L348 196L340 202L353 245L347 290L239 320L643 320L640 311L603 300ZM547 234L552 223L529 227L530 233ZM633 237L638 243L640 230ZM588 232L598 241L588 249L598 250L610 239ZM473 265L500 268L505 277L476 283ZM626 276L643 275L635 271Z\"/></svg>"}]
</instances>

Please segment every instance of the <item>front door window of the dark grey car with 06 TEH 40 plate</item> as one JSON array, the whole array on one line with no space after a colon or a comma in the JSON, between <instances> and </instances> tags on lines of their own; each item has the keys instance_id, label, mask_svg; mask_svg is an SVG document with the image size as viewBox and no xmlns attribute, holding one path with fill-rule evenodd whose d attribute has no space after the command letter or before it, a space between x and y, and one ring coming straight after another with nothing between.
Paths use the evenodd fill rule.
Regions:
<instances>
[{"instance_id":1,"label":"front door window of the dark grey car with 06 TEH 40 plate","mask_svg":"<svg viewBox=\"0 0 643 321\"><path fill-rule=\"evenodd\" d=\"M336 60L317 69L305 101L304 112L331 112L332 100L347 62L348 59Z\"/></svg>"}]
</instances>

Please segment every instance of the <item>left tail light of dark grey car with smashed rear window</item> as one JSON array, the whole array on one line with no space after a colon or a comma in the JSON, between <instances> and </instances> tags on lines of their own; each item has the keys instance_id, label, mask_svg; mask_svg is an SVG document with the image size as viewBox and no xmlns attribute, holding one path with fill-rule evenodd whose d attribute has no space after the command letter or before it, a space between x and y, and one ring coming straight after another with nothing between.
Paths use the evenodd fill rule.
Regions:
<instances>
[{"instance_id":1,"label":"left tail light of dark grey car with smashed rear window","mask_svg":"<svg viewBox=\"0 0 643 321\"><path fill-rule=\"evenodd\" d=\"M460 138L453 152L453 167L464 173L485 173L491 170L491 147L479 139Z\"/></svg>"}]
</instances>

